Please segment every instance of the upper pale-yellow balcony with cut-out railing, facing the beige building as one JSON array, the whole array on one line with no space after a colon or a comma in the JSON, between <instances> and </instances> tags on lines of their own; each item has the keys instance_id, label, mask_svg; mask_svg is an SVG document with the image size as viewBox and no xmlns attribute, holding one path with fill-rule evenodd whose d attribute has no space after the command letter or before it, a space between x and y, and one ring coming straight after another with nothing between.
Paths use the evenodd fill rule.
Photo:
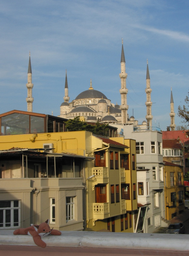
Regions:
<instances>
[{"instance_id":1,"label":"upper pale-yellow balcony with cut-out railing, facing the beige building","mask_svg":"<svg viewBox=\"0 0 189 256\"><path fill-rule=\"evenodd\" d=\"M108 167L93 167L92 174L95 175L93 184L108 183Z\"/></svg>"}]
</instances>

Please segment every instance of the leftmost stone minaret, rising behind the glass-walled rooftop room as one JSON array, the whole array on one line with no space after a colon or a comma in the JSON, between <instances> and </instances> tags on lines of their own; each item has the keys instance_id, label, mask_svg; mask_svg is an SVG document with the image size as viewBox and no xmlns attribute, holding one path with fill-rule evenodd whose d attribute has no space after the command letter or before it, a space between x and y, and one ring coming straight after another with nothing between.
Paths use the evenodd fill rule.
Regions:
<instances>
[{"instance_id":1,"label":"leftmost stone minaret, rising behind the glass-walled rooftop room","mask_svg":"<svg viewBox=\"0 0 189 256\"><path fill-rule=\"evenodd\" d=\"M32 67L31 67L31 60L30 60L30 52L29 52L29 64L28 64L28 83L26 83L26 87L28 89L28 97L26 98L27 102L27 111L32 112L32 103L34 101L34 98L32 98Z\"/></svg>"}]
</instances>

